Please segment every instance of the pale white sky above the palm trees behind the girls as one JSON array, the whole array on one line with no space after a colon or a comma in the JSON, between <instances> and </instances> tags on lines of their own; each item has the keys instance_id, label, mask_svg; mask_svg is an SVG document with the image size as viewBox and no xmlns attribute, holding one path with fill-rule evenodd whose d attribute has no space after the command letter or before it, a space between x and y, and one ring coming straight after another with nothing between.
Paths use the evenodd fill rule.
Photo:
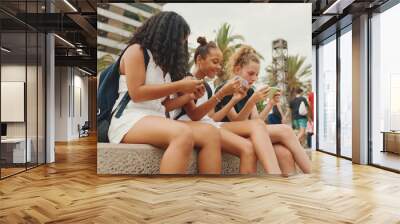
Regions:
<instances>
[{"instance_id":1,"label":"pale white sky above the palm trees behind the girls","mask_svg":"<svg viewBox=\"0 0 400 224\"><path fill-rule=\"evenodd\" d=\"M289 55L306 56L311 64L311 4L306 3L168 3L163 11L175 11L189 23L189 46L196 47L198 36L214 40L218 28L227 22L232 34L240 34L244 43L264 57L260 75L272 61L272 41L288 42Z\"/></svg>"}]
</instances>

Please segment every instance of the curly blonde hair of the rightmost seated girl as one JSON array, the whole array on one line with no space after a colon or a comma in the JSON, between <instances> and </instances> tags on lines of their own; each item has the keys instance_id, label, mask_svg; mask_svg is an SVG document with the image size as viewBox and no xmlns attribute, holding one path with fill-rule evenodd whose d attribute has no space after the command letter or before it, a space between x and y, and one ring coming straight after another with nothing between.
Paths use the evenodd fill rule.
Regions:
<instances>
[{"instance_id":1,"label":"curly blonde hair of the rightmost seated girl","mask_svg":"<svg viewBox=\"0 0 400 224\"><path fill-rule=\"evenodd\" d=\"M251 61L260 64L260 58L257 55L256 50L248 45L242 45L238 50L233 53L233 55L229 58L229 62L227 65L229 78L234 76L234 69L236 66L248 65Z\"/></svg>"}]
</instances>

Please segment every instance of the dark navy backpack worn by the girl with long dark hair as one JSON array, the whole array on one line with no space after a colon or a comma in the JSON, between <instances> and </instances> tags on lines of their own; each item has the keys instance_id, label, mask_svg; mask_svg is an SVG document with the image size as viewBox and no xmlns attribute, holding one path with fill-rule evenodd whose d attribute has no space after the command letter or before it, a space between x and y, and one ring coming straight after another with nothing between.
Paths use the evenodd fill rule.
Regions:
<instances>
[{"instance_id":1,"label":"dark navy backpack worn by the girl with long dark hair","mask_svg":"<svg viewBox=\"0 0 400 224\"><path fill-rule=\"evenodd\" d=\"M127 48L126 48L127 49ZM126 50L125 49L125 50ZM147 50L143 49L145 70L149 64L149 54ZM108 66L101 74L99 80L99 87L97 90L97 141L98 142L110 142L108 139L108 128L110 126L111 118L114 116L119 118L122 115L126 105L128 105L131 98L128 92L125 93L122 100L119 102L115 110L112 110L115 101L118 99L118 89L119 89L119 64L122 55L118 57L117 61Z\"/></svg>"}]
</instances>

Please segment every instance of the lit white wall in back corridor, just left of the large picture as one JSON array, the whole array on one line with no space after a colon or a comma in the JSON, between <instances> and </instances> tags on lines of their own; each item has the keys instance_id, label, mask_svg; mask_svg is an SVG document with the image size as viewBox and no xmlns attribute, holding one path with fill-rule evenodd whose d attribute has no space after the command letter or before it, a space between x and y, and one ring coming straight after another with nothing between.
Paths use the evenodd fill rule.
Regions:
<instances>
[{"instance_id":1,"label":"lit white wall in back corridor, just left of the large picture","mask_svg":"<svg viewBox=\"0 0 400 224\"><path fill-rule=\"evenodd\" d=\"M56 67L56 141L79 138L78 124L83 125L88 120L88 79L82 75L76 68Z\"/></svg>"}]
</instances>

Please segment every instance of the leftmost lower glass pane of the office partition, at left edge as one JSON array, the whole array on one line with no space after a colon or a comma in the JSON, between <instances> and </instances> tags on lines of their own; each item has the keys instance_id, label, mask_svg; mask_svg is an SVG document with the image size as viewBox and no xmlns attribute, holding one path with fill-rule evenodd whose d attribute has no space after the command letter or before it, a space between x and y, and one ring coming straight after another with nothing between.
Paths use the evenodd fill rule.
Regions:
<instances>
[{"instance_id":1,"label":"leftmost lower glass pane of the office partition, at left edge","mask_svg":"<svg viewBox=\"0 0 400 224\"><path fill-rule=\"evenodd\" d=\"M1 175L2 178L25 170L30 161L26 150L25 87L26 33L1 34Z\"/></svg>"}]
</instances>

